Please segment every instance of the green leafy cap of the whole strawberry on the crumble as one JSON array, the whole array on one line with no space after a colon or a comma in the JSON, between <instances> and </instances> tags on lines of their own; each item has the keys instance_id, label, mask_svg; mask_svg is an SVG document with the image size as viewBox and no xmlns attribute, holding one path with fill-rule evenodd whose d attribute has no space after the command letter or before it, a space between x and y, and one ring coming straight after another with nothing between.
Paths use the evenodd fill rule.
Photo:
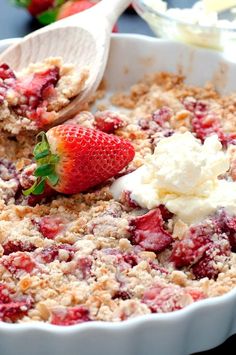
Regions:
<instances>
[{"instance_id":1,"label":"green leafy cap of the whole strawberry on the crumble","mask_svg":"<svg viewBox=\"0 0 236 355\"><path fill-rule=\"evenodd\" d=\"M34 176L37 179L29 189L23 191L25 196L30 194L41 195L47 181L50 185L55 186L59 180L56 174L56 164L59 162L59 156L52 154L45 132L39 133L37 139L39 142L36 144L33 152L37 163Z\"/></svg>"}]
</instances>

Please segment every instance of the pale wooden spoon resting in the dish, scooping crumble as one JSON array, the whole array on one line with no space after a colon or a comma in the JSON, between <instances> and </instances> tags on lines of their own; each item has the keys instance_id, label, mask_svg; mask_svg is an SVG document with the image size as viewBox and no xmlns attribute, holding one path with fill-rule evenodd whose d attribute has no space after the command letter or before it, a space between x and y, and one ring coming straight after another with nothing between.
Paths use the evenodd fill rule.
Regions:
<instances>
[{"instance_id":1,"label":"pale wooden spoon resting in the dish, scooping crumble","mask_svg":"<svg viewBox=\"0 0 236 355\"><path fill-rule=\"evenodd\" d=\"M0 55L0 63L21 70L47 57L62 57L77 71L85 66L89 78L84 90L59 112L54 124L74 116L98 87L107 63L110 34L129 0L102 0L92 8L55 22L24 37ZM128 49L127 49L128 50Z\"/></svg>"}]
</instances>

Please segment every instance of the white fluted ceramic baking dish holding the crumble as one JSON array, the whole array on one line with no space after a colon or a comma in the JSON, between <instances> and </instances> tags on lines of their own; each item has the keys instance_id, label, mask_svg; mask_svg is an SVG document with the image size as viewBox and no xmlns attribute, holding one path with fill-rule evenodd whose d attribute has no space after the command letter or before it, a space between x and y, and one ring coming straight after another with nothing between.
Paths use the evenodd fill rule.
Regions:
<instances>
[{"instance_id":1,"label":"white fluted ceramic baking dish holding the crumble","mask_svg":"<svg viewBox=\"0 0 236 355\"><path fill-rule=\"evenodd\" d=\"M0 51L14 41L0 41ZM105 74L109 91L160 70L181 72L191 84L210 80L221 92L236 91L236 64L217 52L145 36L113 36ZM234 333L236 289L174 313L122 323L0 323L0 355L185 355L215 347Z\"/></svg>"}]
</instances>

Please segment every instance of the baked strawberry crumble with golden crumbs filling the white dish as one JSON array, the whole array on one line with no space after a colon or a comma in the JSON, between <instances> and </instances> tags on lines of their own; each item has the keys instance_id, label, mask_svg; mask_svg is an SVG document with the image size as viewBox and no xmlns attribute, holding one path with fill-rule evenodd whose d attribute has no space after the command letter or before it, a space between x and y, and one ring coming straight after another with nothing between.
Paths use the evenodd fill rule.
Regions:
<instances>
[{"instance_id":1,"label":"baked strawberry crumble with golden crumbs filling the white dish","mask_svg":"<svg viewBox=\"0 0 236 355\"><path fill-rule=\"evenodd\" d=\"M64 326L122 321L176 311L236 286L236 214L217 204L207 215L189 219L166 203L164 188L161 202L151 207L142 206L132 191L117 199L111 193L115 181L158 154L155 148L161 142L186 132L199 150L204 144L210 149L209 139L217 140L219 159L224 154L229 162L222 174L217 170L217 181L236 183L235 94L222 97L210 84L187 86L174 74L147 76L129 93L110 98L116 111L80 112L44 136L48 141L52 132L69 137L63 145L66 152L76 134L92 137L93 144L94 137L96 144L105 139L113 148L123 142L130 156L117 171L98 176L95 186L85 185L79 193L68 193L68 186L56 189L57 180L45 180L43 192L25 194L38 178L35 172L42 177L38 169L45 165L43 160L37 168L33 159L46 156L37 149L33 154L34 130L53 120L81 90L86 75L72 80L73 70L57 59L32 65L17 76L6 65L0 68L0 321ZM28 129L32 132L25 134ZM87 154L87 140L81 142ZM117 150L112 149L100 153L103 166L109 166L111 152L117 163ZM124 158L123 150L119 156ZM215 168L213 158L209 160ZM55 168L57 160L53 164ZM51 173L47 177L54 182Z\"/></svg>"}]
</instances>

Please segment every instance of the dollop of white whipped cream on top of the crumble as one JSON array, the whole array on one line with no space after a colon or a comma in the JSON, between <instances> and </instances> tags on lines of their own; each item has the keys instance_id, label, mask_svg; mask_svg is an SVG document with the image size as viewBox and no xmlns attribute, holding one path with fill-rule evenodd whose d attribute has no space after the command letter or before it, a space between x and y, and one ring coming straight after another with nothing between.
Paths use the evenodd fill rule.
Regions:
<instances>
[{"instance_id":1,"label":"dollop of white whipped cream on top of the crumble","mask_svg":"<svg viewBox=\"0 0 236 355\"><path fill-rule=\"evenodd\" d=\"M190 132L175 133L158 142L142 167L117 179L111 193L119 200L129 191L147 209L164 204L192 224L219 208L236 214L236 182L219 179L228 169L229 159L216 135L202 144Z\"/></svg>"}]
</instances>

